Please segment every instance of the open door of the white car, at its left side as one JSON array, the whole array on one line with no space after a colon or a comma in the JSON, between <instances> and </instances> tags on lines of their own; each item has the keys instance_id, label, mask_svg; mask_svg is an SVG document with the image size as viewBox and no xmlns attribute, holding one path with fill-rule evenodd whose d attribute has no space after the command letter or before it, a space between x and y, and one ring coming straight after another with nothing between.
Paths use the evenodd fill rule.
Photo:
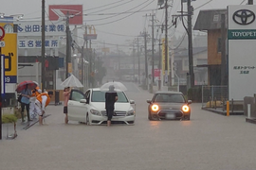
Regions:
<instances>
[{"instance_id":1,"label":"open door of the white car, at its left side","mask_svg":"<svg viewBox=\"0 0 256 170\"><path fill-rule=\"evenodd\" d=\"M81 103L85 99L85 95L79 90L72 90L67 102L68 120L85 122L86 120L86 104Z\"/></svg>"}]
</instances>

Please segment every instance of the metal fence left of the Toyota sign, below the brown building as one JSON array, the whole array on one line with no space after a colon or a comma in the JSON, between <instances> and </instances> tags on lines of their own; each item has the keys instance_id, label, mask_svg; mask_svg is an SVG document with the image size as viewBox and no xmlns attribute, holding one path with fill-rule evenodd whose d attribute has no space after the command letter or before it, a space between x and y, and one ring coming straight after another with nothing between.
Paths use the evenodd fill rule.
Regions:
<instances>
[{"instance_id":1,"label":"metal fence left of the Toyota sign, below the brown building","mask_svg":"<svg viewBox=\"0 0 256 170\"><path fill-rule=\"evenodd\" d=\"M228 100L228 86L202 86L202 108L222 108Z\"/></svg>"}]
</instances>

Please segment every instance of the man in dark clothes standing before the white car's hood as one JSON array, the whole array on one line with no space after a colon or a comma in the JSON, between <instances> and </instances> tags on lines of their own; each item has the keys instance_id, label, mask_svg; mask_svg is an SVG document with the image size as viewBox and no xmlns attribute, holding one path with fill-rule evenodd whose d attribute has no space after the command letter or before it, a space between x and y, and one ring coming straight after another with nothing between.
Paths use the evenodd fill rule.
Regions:
<instances>
[{"instance_id":1,"label":"man in dark clothes standing before the white car's hood","mask_svg":"<svg viewBox=\"0 0 256 170\"><path fill-rule=\"evenodd\" d=\"M118 93L114 91L114 86L109 86L109 91L105 93L105 109L107 113L107 127L111 125L111 119L115 110L115 102L119 99Z\"/></svg>"}]
</instances>

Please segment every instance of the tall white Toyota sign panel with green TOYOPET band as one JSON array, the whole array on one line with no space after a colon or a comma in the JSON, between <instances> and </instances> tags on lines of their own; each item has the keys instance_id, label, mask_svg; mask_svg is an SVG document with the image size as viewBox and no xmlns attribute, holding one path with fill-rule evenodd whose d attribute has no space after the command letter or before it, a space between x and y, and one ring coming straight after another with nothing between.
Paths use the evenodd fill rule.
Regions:
<instances>
[{"instance_id":1,"label":"tall white Toyota sign panel with green TOYOPET band","mask_svg":"<svg viewBox=\"0 0 256 170\"><path fill-rule=\"evenodd\" d=\"M229 100L244 100L255 93L255 11L252 5L228 7Z\"/></svg>"}]
</instances>

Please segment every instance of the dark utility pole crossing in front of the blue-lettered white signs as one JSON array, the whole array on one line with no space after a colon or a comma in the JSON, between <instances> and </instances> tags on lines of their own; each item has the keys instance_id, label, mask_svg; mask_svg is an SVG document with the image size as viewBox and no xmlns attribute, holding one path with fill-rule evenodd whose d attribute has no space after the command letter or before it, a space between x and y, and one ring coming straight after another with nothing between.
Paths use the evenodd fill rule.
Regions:
<instances>
[{"instance_id":1,"label":"dark utility pole crossing in front of the blue-lettered white signs","mask_svg":"<svg viewBox=\"0 0 256 170\"><path fill-rule=\"evenodd\" d=\"M45 56L46 56L46 0L42 0L42 51L41 51L41 58L42 58L42 64L41 64L41 84L42 84L42 90L45 92L46 89L46 68L45 68Z\"/></svg>"}]
</instances>

